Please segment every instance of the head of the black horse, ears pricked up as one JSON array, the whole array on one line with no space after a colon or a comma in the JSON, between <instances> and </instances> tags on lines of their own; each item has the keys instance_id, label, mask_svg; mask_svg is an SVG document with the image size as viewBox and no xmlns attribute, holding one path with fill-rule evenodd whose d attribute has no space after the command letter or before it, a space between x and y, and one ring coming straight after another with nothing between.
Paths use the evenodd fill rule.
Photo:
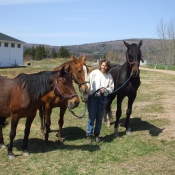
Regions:
<instances>
[{"instance_id":1,"label":"head of the black horse, ears pricked up","mask_svg":"<svg viewBox=\"0 0 175 175\"><path fill-rule=\"evenodd\" d=\"M140 66L140 61L143 62L143 59L141 58L142 53L140 50L140 47L142 45L142 40L138 44L128 44L127 42L123 41L125 46L127 47L126 51L126 59L127 62L130 65L131 68L131 76L132 77L137 77L139 75L139 66Z\"/></svg>"}]
</instances>

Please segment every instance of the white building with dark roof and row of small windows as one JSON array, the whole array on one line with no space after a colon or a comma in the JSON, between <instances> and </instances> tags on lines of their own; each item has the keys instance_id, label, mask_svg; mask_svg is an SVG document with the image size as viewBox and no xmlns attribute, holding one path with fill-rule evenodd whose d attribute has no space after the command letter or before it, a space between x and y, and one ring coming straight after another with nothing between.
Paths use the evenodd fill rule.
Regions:
<instances>
[{"instance_id":1,"label":"white building with dark roof and row of small windows","mask_svg":"<svg viewBox=\"0 0 175 175\"><path fill-rule=\"evenodd\" d=\"M0 67L23 65L23 41L0 33Z\"/></svg>"}]
</instances>

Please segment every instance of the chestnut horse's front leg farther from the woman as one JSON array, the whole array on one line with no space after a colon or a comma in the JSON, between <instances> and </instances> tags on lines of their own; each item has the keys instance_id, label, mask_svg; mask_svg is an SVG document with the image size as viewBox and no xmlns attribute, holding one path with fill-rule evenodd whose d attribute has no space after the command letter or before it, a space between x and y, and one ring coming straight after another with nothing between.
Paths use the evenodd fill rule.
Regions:
<instances>
[{"instance_id":1,"label":"chestnut horse's front leg farther from the woman","mask_svg":"<svg viewBox=\"0 0 175 175\"><path fill-rule=\"evenodd\" d=\"M47 106L45 107L45 114L46 114L46 122L45 122L45 126L46 126L46 133L45 133L45 142L48 142L49 140L49 132L50 132L50 125L51 125L51 120L50 120L50 115L52 113L52 109Z\"/></svg>"}]
</instances>

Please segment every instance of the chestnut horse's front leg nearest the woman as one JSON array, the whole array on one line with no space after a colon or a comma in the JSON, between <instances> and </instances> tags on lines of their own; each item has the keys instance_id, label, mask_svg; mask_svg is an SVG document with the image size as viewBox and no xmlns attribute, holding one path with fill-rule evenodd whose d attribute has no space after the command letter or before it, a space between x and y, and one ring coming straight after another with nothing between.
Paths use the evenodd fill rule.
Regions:
<instances>
[{"instance_id":1,"label":"chestnut horse's front leg nearest the woman","mask_svg":"<svg viewBox=\"0 0 175 175\"><path fill-rule=\"evenodd\" d=\"M59 132L58 132L58 141L63 143L63 139L62 139L62 128L63 128L63 124L64 124L64 113L66 111L67 107L60 107L60 119L58 121L58 126L59 126Z\"/></svg>"}]
</instances>

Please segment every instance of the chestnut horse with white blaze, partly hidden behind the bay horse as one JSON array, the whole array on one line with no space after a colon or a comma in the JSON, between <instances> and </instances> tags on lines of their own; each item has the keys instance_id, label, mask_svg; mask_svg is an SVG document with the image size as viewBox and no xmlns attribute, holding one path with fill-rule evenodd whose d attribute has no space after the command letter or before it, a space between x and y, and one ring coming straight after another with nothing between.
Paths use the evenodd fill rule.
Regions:
<instances>
[{"instance_id":1,"label":"chestnut horse with white blaze, partly hidden behind the bay horse","mask_svg":"<svg viewBox=\"0 0 175 175\"><path fill-rule=\"evenodd\" d=\"M77 59L75 56L73 56L72 61L68 61L64 64L62 64L59 67L56 67L54 70L60 70L63 66L67 67L70 66L69 74L72 77L72 80L76 84L78 84L80 91L85 92L87 89L86 81L85 81L85 72L83 70L83 65L85 65L86 62L86 56L84 55L81 59ZM62 139L62 127L64 124L64 113L67 109L67 105L65 103L65 99L60 98L58 96L55 96L54 92L51 91L47 95L45 95L42 98L43 104L39 109L39 115L41 120L41 135L44 135L44 122L46 127L45 132L45 141L48 141L49 138L49 132L50 132L50 125L51 125L51 113L52 109L55 107L60 107L60 118L58 121L59 125L59 132L58 132L58 141L63 142ZM74 107L77 107L78 104ZM45 121L44 121L45 117Z\"/></svg>"}]
</instances>

